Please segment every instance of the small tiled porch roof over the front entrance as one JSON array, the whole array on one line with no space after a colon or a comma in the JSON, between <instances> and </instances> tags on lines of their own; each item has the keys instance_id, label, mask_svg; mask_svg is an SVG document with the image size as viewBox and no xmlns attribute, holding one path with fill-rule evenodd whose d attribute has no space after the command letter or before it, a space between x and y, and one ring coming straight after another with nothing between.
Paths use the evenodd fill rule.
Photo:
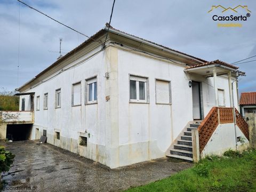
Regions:
<instances>
[{"instance_id":1,"label":"small tiled porch roof over the front entrance","mask_svg":"<svg viewBox=\"0 0 256 192\"><path fill-rule=\"evenodd\" d=\"M226 74L228 72L236 74L236 72L238 72L238 67L220 60L205 62L196 66L187 67L184 71L202 76L212 76L213 69L216 70L217 75Z\"/></svg>"}]
</instances>

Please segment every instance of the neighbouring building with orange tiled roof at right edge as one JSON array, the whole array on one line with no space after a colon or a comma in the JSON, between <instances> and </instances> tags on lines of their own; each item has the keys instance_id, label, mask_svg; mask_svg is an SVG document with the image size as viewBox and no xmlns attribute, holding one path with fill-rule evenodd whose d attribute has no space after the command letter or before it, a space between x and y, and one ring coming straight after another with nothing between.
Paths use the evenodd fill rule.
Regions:
<instances>
[{"instance_id":1,"label":"neighbouring building with orange tiled roof at right edge","mask_svg":"<svg viewBox=\"0 0 256 192\"><path fill-rule=\"evenodd\" d=\"M239 106L243 116L246 113L256 113L256 92L241 93Z\"/></svg>"}]
</instances>

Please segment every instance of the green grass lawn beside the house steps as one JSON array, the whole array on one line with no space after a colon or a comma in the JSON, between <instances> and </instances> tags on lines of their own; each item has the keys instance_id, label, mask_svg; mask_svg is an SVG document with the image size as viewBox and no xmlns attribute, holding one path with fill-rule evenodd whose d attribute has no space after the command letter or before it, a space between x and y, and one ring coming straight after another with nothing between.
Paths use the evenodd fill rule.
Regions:
<instances>
[{"instance_id":1,"label":"green grass lawn beside the house steps","mask_svg":"<svg viewBox=\"0 0 256 192\"><path fill-rule=\"evenodd\" d=\"M224 155L208 156L190 169L126 192L256 191L256 150L228 150Z\"/></svg>"}]
</instances>

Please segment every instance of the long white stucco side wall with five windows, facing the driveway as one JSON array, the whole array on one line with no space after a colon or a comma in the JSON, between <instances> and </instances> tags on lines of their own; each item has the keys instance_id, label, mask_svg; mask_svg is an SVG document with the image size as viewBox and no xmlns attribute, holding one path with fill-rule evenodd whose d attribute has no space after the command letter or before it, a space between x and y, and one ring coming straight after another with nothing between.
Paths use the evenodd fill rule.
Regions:
<instances>
[{"instance_id":1,"label":"long white stucco side wall with five windows, facing the driveway","mask_svg":"<svg viewBox=\"0 0 256 192\"><path fill-rule=\"evenodd\" d=\"M97 52L94 50L92 53ZM90 53L90 54L92 54ZM81 154L108 164L107 155L105 155L105 53L102 51L93 58L84 61L81 65L66 70L75 65L82 58L71 62L63 68L63 72L57 76L55 74L47 77L49 81L41 83L26 92L35 92L35 123L31 139L35 139L35 129L39 129L39 135L43 130L47 130L47 142L59 146L63 149L70 150L74 153ZM85 79L97 76L98 102L93 105L85 105ZM81 82L81 106L71 106L71 89L72 84ZM86 87L86 88L85 88ZM61 89L61 108L55 108L55 90ZM48 109L43 109L44 93L48 93ZM36 110L36 97L40 96L40 110ZM26 97L26 110L30 110L29 96ZM20 104L21 109L21 104ZM54 139L55 131L60 132L60 141ZM86 133L87 132L87 133ZM89 138L90 133L90 138ZM78 148L79 135L87 137L87 147Z\"/></svg>"}]
</instances>

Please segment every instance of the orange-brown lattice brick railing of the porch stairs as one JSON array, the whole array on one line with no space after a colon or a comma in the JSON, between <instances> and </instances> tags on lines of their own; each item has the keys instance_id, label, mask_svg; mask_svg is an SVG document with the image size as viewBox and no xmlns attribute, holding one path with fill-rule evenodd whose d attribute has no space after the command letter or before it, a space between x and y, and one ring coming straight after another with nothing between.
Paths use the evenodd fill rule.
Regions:
<instances>
[{"instance_id":1,"label":"orange-brown lattice brick railing of the porch stairs","mask_svg":"<svg viewBox=\"0 0 256 192\"><path fill-rule=\"evenodd\" d=\"M239 114L237 109L227 107L213 107L203 122L198 126L199 151L203 151L205 145L210 140L213 132L219 124L234 123L234 113L236 114L236 125L249 140L249 127Z\"/></svg>"}]
</instances>

